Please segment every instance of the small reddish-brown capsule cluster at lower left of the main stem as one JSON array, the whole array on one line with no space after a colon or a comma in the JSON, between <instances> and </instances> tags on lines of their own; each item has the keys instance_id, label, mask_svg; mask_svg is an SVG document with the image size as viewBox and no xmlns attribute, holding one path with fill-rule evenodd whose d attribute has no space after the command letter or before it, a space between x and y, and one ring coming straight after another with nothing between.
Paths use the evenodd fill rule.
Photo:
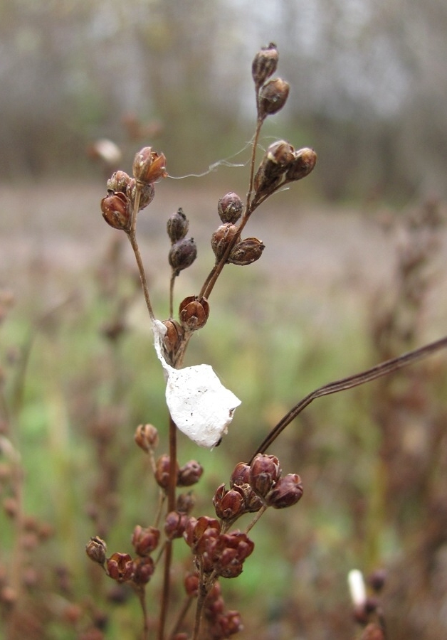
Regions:
<instances>
[{"instance_id":1,"label":"small reddish-brown capsule cluster at lower left of the main stem","mask_svg":"<svg viewBox=\"0 0 447 640\"><path fill-rule=\"evenodd\" d=\"M107 545L98 536L90 538L85 551L90 560L98 562L112 580L142 586L149 582L154 573L155 564L150 554L157 548L159 535L157 528L136 526L132 534L135 558L129 553L119 552L107 557Z\"/></svg>"}]
</instances>

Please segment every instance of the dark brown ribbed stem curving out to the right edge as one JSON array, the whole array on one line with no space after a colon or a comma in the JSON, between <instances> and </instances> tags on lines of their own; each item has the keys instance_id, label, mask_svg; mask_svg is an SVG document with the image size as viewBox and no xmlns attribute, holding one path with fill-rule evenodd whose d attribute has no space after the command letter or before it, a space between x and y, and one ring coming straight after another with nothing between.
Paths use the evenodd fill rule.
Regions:
<instances>
[{"instance_id":1,"label":"dark brown ribbed stem curving out to the right edge","mask_svg":"<svg viewBox=\"0 0 447 640\"><path fill-rule=\"evenodd\" d=\"M386 360L370 369L362 371L362 373L356 373L354 375L349 375L347 378L341 378L340 380L335 380L335 382L324 385L312 393L309 393L305 396L300 402L298 402L293 409L291 409L279 422L273 427L268 436L261 442L256 452L254 452L251 457L252 462L253 458L258 453L264 453L270 444L272 444L278 435L285 430L285 427L290 425L290 422L295 420L307 405L310 405L310 402L316 400L317 398L321 398L322 395L330 395L331 393L338 393L339 391L345 391L347 389L352 389L359 385L363 385L364 383L371 382L372 380L377 380L377 378L382 378L383 375L388 375L389 373L393 373L401 368L404 368L422 358L426 358L427 356L431 356L432 353L436 351L440 351L443 348L447 347L447 336L441 338L435 342L431 342L426 346L420 347L419 349L415 349L414 351L409 351L408 353L404 353L397 358L391 358L391 360ZM250 464L249 463L249 464Z\"/></svg>"}]
</instances>

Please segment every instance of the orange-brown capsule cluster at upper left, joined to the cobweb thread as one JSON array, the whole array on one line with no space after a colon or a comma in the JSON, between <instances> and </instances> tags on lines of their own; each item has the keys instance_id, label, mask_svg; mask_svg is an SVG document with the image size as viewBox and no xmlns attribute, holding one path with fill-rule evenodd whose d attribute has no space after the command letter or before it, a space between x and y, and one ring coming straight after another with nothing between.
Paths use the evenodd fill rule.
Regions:
<instances>
[{"instance_id":1,"label":"orange-brown capsule cluster at upper left, joined to the cobweb thread","mask_svg":"<svg viewBox=\"0 0 447 640\"><path fill-rule=\"evenodd\" d=\"M138 194L138 210L146 208L154 199L154 183L166 178L164 154L144 146L135 155L133 178L125 171L115 171L107 181L107 196L102 198L102 217L114 229L130 231L135 201Z\"/></svg>"}]
</instances>

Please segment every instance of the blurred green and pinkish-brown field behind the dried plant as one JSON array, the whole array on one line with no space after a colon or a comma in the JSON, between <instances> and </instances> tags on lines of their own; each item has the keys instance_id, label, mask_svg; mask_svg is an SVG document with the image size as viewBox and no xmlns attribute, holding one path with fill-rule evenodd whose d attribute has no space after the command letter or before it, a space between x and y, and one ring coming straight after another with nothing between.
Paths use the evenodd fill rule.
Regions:
<instances>
[{"instance_id":1,"label":"blurred green and pinkish-brown field behind the dried plant","mask_svg":"<svg viewBox=\"0 0 447 640\"><path fill-rule=\"evenodd\" d=\"M194 178L164 181L140 214L140 246L160 319L168 309L166 220L182 206L199 248L176 284L178 304L199 291L213 264L209 238L219 225L216 202L231 191L231 179L222 184L219 191ZM122 257L116 258L116 245L115 253L111 247L120 232L100 215L104 193L99 180L0 188L0 284L14 295L1 326L2 430L20 452L24 471L23 496L15 496L11 458L4 455L0 498L23 500L21 515L30 519L23 545L15 539L14 516L8 509L0 516L0 585L4 590L15 581L25 607L14 627L14 602L2 602L9 639L83 638L95 624L107 639L131 639L140 629L130 594L113 591L112 581L95 572L84 553L88 538L104 532L110 552L129 552L134 526L151 523L154 488L133 444L137 424L153 422L162 436L159 453L167 450L162 374L135 288L130 247L123 238ZM234 464L248 459L303 395L377 362L374 314L399 290L396 247L407 241L400 232L386 232L399 215L385 206L303 203L299 185L253 215L246 235L263 240L263 256L249 267L224 270L210 299L210 319L186 358L186 364L210 363L242 400L229 434L213 452L180 437L180 462L196 458L205 468L196 515L213 515L216 487L228 482ZM433 263L427 259L424 267L430 286L423 311L414 311L414 346L445 332L442 228L439 238ZM110 333L107 338L107 324L115 319L126 324L116 341ZM382 595L394 640L441 637L442 629L447 634L441 499L447 480L447 361L435 356L414 370L419 373L413 378L400 378L401 396L372 383L318 400L272 447L285 473L302 476L305 496L291 509L265 515L253 529L256 548L243 575L223 584L228 607L239 609L246 622L241 637L354 638L358 628L346 586L353 567L388 570L389 591ZM401 422L394 444L408 447L404 461L391 453L387 426L397 405ZM393 467L398 463L401 471ZM433 469L414 474L413 492L411 464ZM394 476L402 479L400 489ZM36 533L32 518L41 530L51 529L48 539ZM430 522L436 535L427 533ZM415 560L421 548L424 567ZM11 575L17 570L20 588ZM149 615L154 610L151 604Z\"/></svg>"}]
</instances>

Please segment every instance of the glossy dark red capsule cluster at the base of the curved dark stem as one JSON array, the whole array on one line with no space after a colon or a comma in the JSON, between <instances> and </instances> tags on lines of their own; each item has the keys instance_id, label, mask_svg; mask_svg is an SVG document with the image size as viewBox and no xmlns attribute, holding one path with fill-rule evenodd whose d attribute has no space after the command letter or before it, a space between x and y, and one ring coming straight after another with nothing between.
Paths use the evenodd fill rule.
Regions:
<instances>
[{"instance_id":1,"label":"glossy dark red capsule cluster at the base of the curved dark stem","mask_svg":"<svg viewBox=\"0 0 447 640\"><path fill-rule=\"evenodd\" d=\"M251 464L239 462L233 470L228 491L221 484L214 494L216 516L233 522L243 513L259 511L262 506L276 509L293 506L303 496L298 474L282 475L277 457L258 454Z\"/></svg>"}]
</instances>

